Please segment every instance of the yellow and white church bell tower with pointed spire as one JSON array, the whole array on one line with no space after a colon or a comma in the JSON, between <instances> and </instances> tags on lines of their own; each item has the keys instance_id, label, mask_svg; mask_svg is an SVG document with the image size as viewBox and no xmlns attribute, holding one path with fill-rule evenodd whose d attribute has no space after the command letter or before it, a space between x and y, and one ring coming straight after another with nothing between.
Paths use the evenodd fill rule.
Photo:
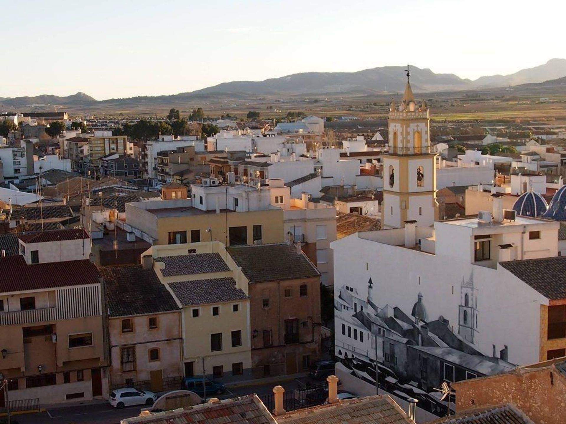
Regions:
<instances>
[{"instance_id":1,"label":"yellow and white church bell tower with pointed spire","mask_svg":"<svg viewBox=\"0 0 566 424\"><path fill-rule=\"evenodd\" d=\"M430 226L438 219L436 154L430 145L426 102L417 106L409 83L400 105L391 102L389 152L383 155L383 228L401 228L405 221Z\"/></svg>"}]
</instances>

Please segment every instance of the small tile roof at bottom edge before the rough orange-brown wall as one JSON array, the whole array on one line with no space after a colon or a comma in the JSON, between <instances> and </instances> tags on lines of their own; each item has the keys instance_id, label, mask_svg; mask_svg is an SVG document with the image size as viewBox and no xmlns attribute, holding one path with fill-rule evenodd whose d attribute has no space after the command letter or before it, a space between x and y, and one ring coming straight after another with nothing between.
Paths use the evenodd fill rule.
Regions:
<instances>
[{"instance_id":1,"label":"small tile roof at bottom edge before the rough orange-brown wall","mask_svg":"<svg viewBox=\"0 0 566 424\"><path fill-rule=\"evenodd\" d=\"M498 405L473 409L428 424L534 424L514 405Z\"/></svg>"}]
</instances>

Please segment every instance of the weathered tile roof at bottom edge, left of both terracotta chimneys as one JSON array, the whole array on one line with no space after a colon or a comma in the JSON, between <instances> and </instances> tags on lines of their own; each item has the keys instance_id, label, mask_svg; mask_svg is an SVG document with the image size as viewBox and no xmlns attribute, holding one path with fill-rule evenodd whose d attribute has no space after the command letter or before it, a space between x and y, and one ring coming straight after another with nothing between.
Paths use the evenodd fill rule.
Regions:
<instances>
[{"instance_id":1,"label":"weathered tile roof at bottom edge, left of both terracotta chimneys","mask_svg":"<svg viewBox=\"0 0 566 424\"><path fill-rule=\"evenodd\" d=\"M257 395L123 419L127 424L277 424Z\"/></svg>"}]
</instances>

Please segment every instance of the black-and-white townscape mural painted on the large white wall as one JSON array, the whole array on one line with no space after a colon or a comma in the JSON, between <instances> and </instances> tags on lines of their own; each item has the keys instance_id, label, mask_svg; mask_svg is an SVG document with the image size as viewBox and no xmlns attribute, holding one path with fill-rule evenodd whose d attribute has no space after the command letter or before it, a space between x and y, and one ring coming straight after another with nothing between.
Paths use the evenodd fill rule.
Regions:
<instances>
[{"instance_id":1,"label":"black-and-white townscape mural painted on the large white wall","mask_svg":"<svg viewBox=\"0 0 566 424\"><path fill-rule=\"evenodd\" d=\"M367 297L365 293L367 285ZM479 351L478 289L474 275L462 275L460 305L446 305L445 315L431 316L422 292L414 297L413 308L402 310L384 301L369 278L337 288L335 297L335 354L350 374L404 399L415 397L419 407L439 416L447 412L447 399L441 400L443 382L455 382L514 369L507 362L507 347L494 356ZM457 293L454 293L457 294ZM452 323L444 316L456 316ZM497 353L497 356L496 356ZM376 365L377 358L377 365ZM376 367L377 383L376 383ZM452 404L453 406L453 404Z\"/></svg>"}]
</instances>

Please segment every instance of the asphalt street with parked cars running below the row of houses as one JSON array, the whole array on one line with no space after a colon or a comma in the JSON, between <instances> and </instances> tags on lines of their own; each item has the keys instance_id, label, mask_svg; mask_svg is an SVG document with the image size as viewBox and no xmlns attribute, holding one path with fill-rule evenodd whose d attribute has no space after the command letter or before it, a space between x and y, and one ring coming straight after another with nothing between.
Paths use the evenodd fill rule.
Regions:
<instances>
[{"instance_id":1,"label":"asphalt street with parked cars running below the row of houses","mask_svg":"<svg viewBox=\"0 0 566 424\"><path fill-rule=\"evenodd\" d=\"M285 390L304 387L311 379L306 377L282 383L257 384L243 387L230 387L226 393L217 396L218 399L228 399L234 396L267 395L272 393L274 386L280 385ZM317 382L320 383L320 382ZM162 393L160 393L162 394ZM96 404L62 406L49 408L46 412L12 416L12 424L118 424L121 419L138 416L142 405L128 406L115 409L104 401Z\"/></svg>"}]
</instances>

